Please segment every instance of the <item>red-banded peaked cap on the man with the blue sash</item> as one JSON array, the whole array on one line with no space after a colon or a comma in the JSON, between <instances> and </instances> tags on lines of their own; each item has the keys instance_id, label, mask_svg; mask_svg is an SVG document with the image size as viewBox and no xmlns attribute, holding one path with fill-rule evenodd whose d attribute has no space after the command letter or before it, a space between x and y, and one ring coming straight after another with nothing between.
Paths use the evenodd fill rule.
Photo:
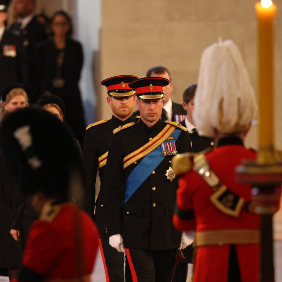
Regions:
<instances>
[{"instance_id":1,"label":"red-banded peaked cap on the man with the blue sash","mask_svg":"<svg viewBox=\"0 0 282 282\"><path fill-rule=\"evenodd\" d=\"M163 86L169 85L169 80L162 77L143 77L129 83L141 100L159 100L163 96Z\"/></svg>"}]
</instances>

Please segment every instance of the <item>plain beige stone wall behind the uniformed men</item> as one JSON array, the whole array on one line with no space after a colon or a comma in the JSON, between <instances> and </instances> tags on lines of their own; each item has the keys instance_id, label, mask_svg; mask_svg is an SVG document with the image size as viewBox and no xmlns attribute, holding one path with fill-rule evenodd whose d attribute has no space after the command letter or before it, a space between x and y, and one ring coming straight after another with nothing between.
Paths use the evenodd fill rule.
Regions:
<instances>
[{"instance_id":1,"label":"plain beige stone wall behind the uniformed men","mask_svg":"<svg viewBox=\"0 0 282 282\"><path fill-rule=\"evenodd\" d=\"M148 68L163 65L174 81L173 100L182 102L183 90L195 83L205 47L221 37L240 48L252 85L256 76L256 0L102 0L101 78L118 74L145 76ZM280 11L282 1L274 0ZM276 145L282 148L282 16L275 20L276 46ZM280 48L279 48L280 46ZM101 89L106 96L104 88ZM267 93L265 93L267 95ZM102 99L99 118L109 118L110 108ZM257 147L256 129L247 145Z\"/></svg>"}]
</instances>

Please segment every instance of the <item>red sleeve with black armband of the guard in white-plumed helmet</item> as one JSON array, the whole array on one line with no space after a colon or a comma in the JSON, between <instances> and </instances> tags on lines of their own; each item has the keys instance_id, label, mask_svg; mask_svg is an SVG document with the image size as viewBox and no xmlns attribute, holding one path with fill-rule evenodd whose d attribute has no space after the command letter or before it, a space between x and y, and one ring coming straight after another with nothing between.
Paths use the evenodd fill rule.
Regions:
<instances>
[{"instance_id":1,"label":"red sleeve with black armband of the guard in white-plumed helmet","mask_svg":"<svg viewBox=\"0 0 282 282\"><path fill-rule=\"evenodd\" d=\"M195 229L192 197L189 194L189 175L188 172L179 178L176 191L176 211L173 216L173 223L176 229L180 231Z\"/></svg>"}]
</instances>

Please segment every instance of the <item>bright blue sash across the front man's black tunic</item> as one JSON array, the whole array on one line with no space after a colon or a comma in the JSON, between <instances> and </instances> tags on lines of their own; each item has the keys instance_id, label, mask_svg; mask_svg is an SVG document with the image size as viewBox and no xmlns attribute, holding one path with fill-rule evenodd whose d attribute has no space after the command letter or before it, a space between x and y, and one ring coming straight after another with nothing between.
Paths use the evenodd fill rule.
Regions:
<instances>
[{"instance_id":1,"label":"bright blue sash across the front man's black tunic","mask_svg":"<svg viewBox=\"0 0 282 282\"><path fill-rule=\"evenodd\" d=\"M180 135L180 132L181 129L176 128L170 136L174 137L176 141ZM167 142L170 141L164 141L163 143ZM124 200L122 207L140 187L140 185L147 179L147 177L158 167L164 157L165 156L161 154L161 149L158 146L155 150L146 155L134 168L125 181Z\"/></svg>"}]
</instances>

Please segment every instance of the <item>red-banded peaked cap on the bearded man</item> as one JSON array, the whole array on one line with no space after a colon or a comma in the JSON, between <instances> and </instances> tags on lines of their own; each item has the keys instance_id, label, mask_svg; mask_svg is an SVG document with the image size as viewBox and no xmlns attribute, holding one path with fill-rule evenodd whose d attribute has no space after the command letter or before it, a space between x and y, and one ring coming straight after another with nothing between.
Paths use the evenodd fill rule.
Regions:
<instances>
[{"instance_id":1,"label":"red-banded peaked cap on the bearded man","mask_svg":"<svg viewBox=\"0 0 282 282\"><path fill-rule=\"evenodd\" d=\"M138 76L135 75L117 75L104 79L101 84L106 86L109 96L121 99L135 94L135 90L130 88L128 84L137 78Z\"/></svg>"}]
</instances>

